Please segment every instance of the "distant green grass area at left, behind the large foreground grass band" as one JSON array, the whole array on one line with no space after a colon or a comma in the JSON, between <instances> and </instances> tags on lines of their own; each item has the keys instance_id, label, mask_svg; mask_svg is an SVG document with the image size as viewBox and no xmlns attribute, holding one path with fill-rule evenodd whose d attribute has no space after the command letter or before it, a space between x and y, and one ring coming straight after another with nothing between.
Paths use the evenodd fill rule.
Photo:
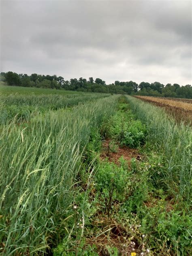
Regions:
<instances>
[{"instance_id":1,"label":"distant green grass area at left, behind the large foreground grass band","mask_svg":"<svg viewBox=\"0 0 192 256\"><path fill-rule=\"evenodd\" d=\"M13 119L18 122L28 121L39 112L73 107L78 104L107 97L109 94L2 94L0 96L0 123Z\"/></svg>"}]
</instances>

